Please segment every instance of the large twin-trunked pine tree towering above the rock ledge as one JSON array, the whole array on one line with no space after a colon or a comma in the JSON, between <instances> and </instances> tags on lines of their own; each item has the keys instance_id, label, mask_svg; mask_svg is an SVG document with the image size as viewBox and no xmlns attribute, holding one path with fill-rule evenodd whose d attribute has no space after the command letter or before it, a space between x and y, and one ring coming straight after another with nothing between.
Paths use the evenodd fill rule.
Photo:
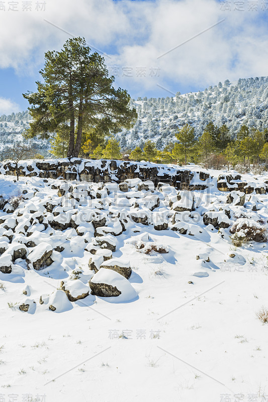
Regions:
<instances>
[{"instance_id":1,"label":"large twin-trunked pine tree towering above the rock ledge","mask_svg":"<svg viewBox=\"0 0 268 402\"><path fill-rule=\"evenodd\" d=\"M44 83L36 82L37 92L23 94L32 105L28 138L49 138L67 126L67 156L77 157L88 127L101 124L109 134L135 123L137 113L130 107L129 94L112 86L115 78L109 77L104 58L91 54L84 38L68 39L61 51L46 52L40 74Z\"/></svg>"}]
</instances>

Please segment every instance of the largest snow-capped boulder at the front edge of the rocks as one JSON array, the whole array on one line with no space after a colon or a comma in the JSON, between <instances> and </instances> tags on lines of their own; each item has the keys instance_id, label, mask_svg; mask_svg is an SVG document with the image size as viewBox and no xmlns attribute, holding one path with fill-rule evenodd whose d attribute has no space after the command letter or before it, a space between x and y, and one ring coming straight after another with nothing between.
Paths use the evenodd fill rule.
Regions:
<instances>
[{"instance_id":1,"label":"largest snow-capped boulder at the front edge of the rocks","mask_svg":"<svg viewBox=\"0 0 268 402\"><path fill-rule=\"evenodd\" d=\"M101 297L118 297L118 302L129 302L137 297L130 282L120 273L101 268L90 280L91 294Z\"/></svg>"}]
</instances>

